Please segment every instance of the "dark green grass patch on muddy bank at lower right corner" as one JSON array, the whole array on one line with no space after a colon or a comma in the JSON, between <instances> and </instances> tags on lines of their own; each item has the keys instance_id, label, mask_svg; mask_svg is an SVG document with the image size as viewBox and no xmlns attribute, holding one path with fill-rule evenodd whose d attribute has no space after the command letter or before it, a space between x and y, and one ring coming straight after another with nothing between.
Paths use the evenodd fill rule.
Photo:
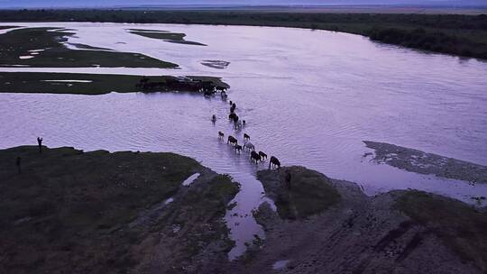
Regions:
<instances>
[{"instance_id":1,"label":"dark green grass patch on muddy bank at lower right corner","mask_svg":"<svg viewBox=\"0 0 487 274\"><path fill-rule=\"evenodd\" d=\"M487 212L450 198L411 190L400 195L396 208L446 244L464 261L487 271Z\"/></svg>"}]
</instances>

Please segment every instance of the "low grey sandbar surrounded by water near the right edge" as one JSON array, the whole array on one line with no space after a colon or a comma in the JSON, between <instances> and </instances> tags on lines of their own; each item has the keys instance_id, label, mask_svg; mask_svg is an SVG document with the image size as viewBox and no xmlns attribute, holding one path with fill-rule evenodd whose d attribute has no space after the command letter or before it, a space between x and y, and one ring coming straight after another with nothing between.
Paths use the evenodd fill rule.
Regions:
<instances>
[{"instance_id":1,"label":"low grey sandbar surrounded by water near the right edge","mask_svg":"<svg viewBox=\"0 0 487 274\"><path fill-rule=\"evenodd\" d=\"M471 183L487 183L487 167L434 153L397 146L386 142L363 141L375 151L373 161L437 177L455 178ZM372 153L371 153L372 154Z\"/></svg>"}]
</instances>

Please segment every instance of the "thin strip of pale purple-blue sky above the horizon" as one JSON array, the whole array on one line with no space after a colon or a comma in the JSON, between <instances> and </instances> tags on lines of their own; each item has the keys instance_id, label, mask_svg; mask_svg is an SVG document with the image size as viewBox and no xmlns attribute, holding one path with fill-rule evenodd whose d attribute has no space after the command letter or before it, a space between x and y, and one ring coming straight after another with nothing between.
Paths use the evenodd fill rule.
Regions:
<instances>
[{"instance_id":1,"label":"thin strip of pale purple-blue sky above the horizon","mask_svg":"<svg viewBox=\"0 0 487 274\"><path fill-rule=\"evenodd\" d=\"M487 5L487 0L0 0L8 7L110 7L141 5Z\"/></svg>"}]
</instances>

